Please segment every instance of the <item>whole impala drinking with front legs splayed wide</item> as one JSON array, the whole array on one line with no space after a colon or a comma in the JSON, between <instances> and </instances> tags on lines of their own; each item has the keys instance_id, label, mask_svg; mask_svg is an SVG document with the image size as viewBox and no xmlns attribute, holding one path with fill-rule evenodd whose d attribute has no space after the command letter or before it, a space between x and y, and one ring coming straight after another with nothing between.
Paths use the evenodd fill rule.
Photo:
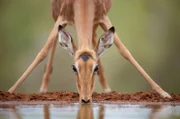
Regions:
<instances>
[{"instance_id":1,"label":"whole impala drinking with front legs splayed wide","mask_svg":"<svg viewBox=\"0 0 180 119\"><path fill-rule=\"evenodd\" d=\"M60 45L74 58L72 69L76 75L80 102L88 103L92 101L91 97L94 91L94 77L96 74L99 75L99 80L104 92L108 93L111 91L103 73L100 56L113 43L115 43L120 54L142 74L157 93L162 97L170 98L170 95L161 89L137 63L115 33L115 28L107 16L112 5L112 0L51 0L51 2L55 24L49 38L35 60L19 80L9 89L9 92L14 92L30 72L45 59L51 50L40 88L41 93L47 92L48 82L52 72L52 60L58 39ZM71 35L65 30L66 25L75 27L78 47L74 44ZM105 33L97 42L96 29L98 26L100 26Z\"/></svg>"}]
</instances>

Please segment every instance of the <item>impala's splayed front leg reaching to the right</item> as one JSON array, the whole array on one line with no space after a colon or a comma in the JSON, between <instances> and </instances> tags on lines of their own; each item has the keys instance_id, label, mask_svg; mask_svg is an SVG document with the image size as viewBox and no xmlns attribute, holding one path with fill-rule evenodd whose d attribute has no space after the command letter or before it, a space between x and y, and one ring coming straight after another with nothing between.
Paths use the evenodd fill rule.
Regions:
<instances>
[{"instance_id":1,"label":"impala's splayed front leg reaching to the right","mask_svg":"<svg viewBox=\"0 0 180 119\"><path fill-rule=\"evenodd\" d=\"M108 16L105 16L104 19L101 21L100 25L104 31L107 31L112 26L112 23L109 20ZM114 43L116 47L118 48L119 52L121 53L121 55L126 60L128 60L141 73L141 75L147 80L147 82L150 84L153 90L155 90L162 97L171 98L171 96L167 92L165 92L159 85L157 85L151 79L151 77L144 71L144 69L138 64L138 62L134 59L134 57L131 55L129 50L120 41L116 33L114 36Z\"/></svg>"}]
</instances>

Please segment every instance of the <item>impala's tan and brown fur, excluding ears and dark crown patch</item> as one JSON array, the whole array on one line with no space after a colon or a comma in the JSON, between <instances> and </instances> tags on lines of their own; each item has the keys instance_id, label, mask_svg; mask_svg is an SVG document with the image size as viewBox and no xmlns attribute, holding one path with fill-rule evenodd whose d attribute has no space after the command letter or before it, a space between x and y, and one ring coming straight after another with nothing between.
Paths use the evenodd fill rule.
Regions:
<instances>
[{"instance_id":1,"label":"impala's tan and brown fur, excluding ears and dark crown patch","mask_svg":"<svg viewBox=\"0 0 180 119\"><path fill-rule=\"evenodd\" d=\"M57 40L59 25L65 27L67 24L70 24L76 28L79 43L77 51L73 42L71 42L72 45L70 45L73 47L75 53L75 67L79 68L78 72L76 71L75 67L73 67L73 70L77 74L77 87L80 93L80 99L83 99L82 102L84 102L84 100L86 103L87 101L89 102L94 87L94 74L98 70L98 65L96 63L99 63L99 67L102 68L100 61L97 60L98 54L91 50L91 43L92 39L95 37L94 31L96 26L100 25L104 31L108 31L108 29L112 27L112 23L106 15L111 7L111 4L112 0L52 0L52 14L56 22L48 37L48 40L32 64L8 91L13 93L15 89L33 71L33 69L46 58L49 50L52 49L47 65L47 70L43 77L43 82L46 83L46 86L41 87L40 89L40 92L47 91L47 84L50 78L52 59L55 52L55 42ZM93 43L95 43L95 41L93 41ZM129 50L120 41L116 33L114 34L114 43L121 55L129 62L131 62L131 64L142 74L142 76L148 81L148 83L156 92L158 92L162 97L171 98L171 96L159 85L157 85L144 71L144 69L137 63ZM103 46L103 43L100 45L100 47L106 48ZM80 58L83 53L88 53L91 55L91 58L86 62ZM99 72L101 85L105 92L109 92L108 87L104 85L105 79L103 78L103 70L99 70Z\"/></svg>"}]
</instances>

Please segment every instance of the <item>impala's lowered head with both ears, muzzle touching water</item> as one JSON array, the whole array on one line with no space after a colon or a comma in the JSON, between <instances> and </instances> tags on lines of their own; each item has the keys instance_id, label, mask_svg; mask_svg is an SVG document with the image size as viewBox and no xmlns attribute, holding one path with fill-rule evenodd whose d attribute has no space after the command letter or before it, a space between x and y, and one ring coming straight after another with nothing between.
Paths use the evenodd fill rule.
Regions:
<instances>
[{"instance_id":1,"label":"impala's lowered head with both ears, muzzle touching water","mask_svg":"<svg viewBox=\"0 0 180 119\"><path fill-rule=\"evenodd\" d=\"M112 45L114 41L114 32L114 27L111 27L100 37L94 49L76 50L70 34L62 26L59 26L59 43L74 57L72 69L76 75L76 84L81 103L91 102L92 93L94 91L94 79L99 69L98 60L103 51Z\"/></svg>"}]
</instances>

